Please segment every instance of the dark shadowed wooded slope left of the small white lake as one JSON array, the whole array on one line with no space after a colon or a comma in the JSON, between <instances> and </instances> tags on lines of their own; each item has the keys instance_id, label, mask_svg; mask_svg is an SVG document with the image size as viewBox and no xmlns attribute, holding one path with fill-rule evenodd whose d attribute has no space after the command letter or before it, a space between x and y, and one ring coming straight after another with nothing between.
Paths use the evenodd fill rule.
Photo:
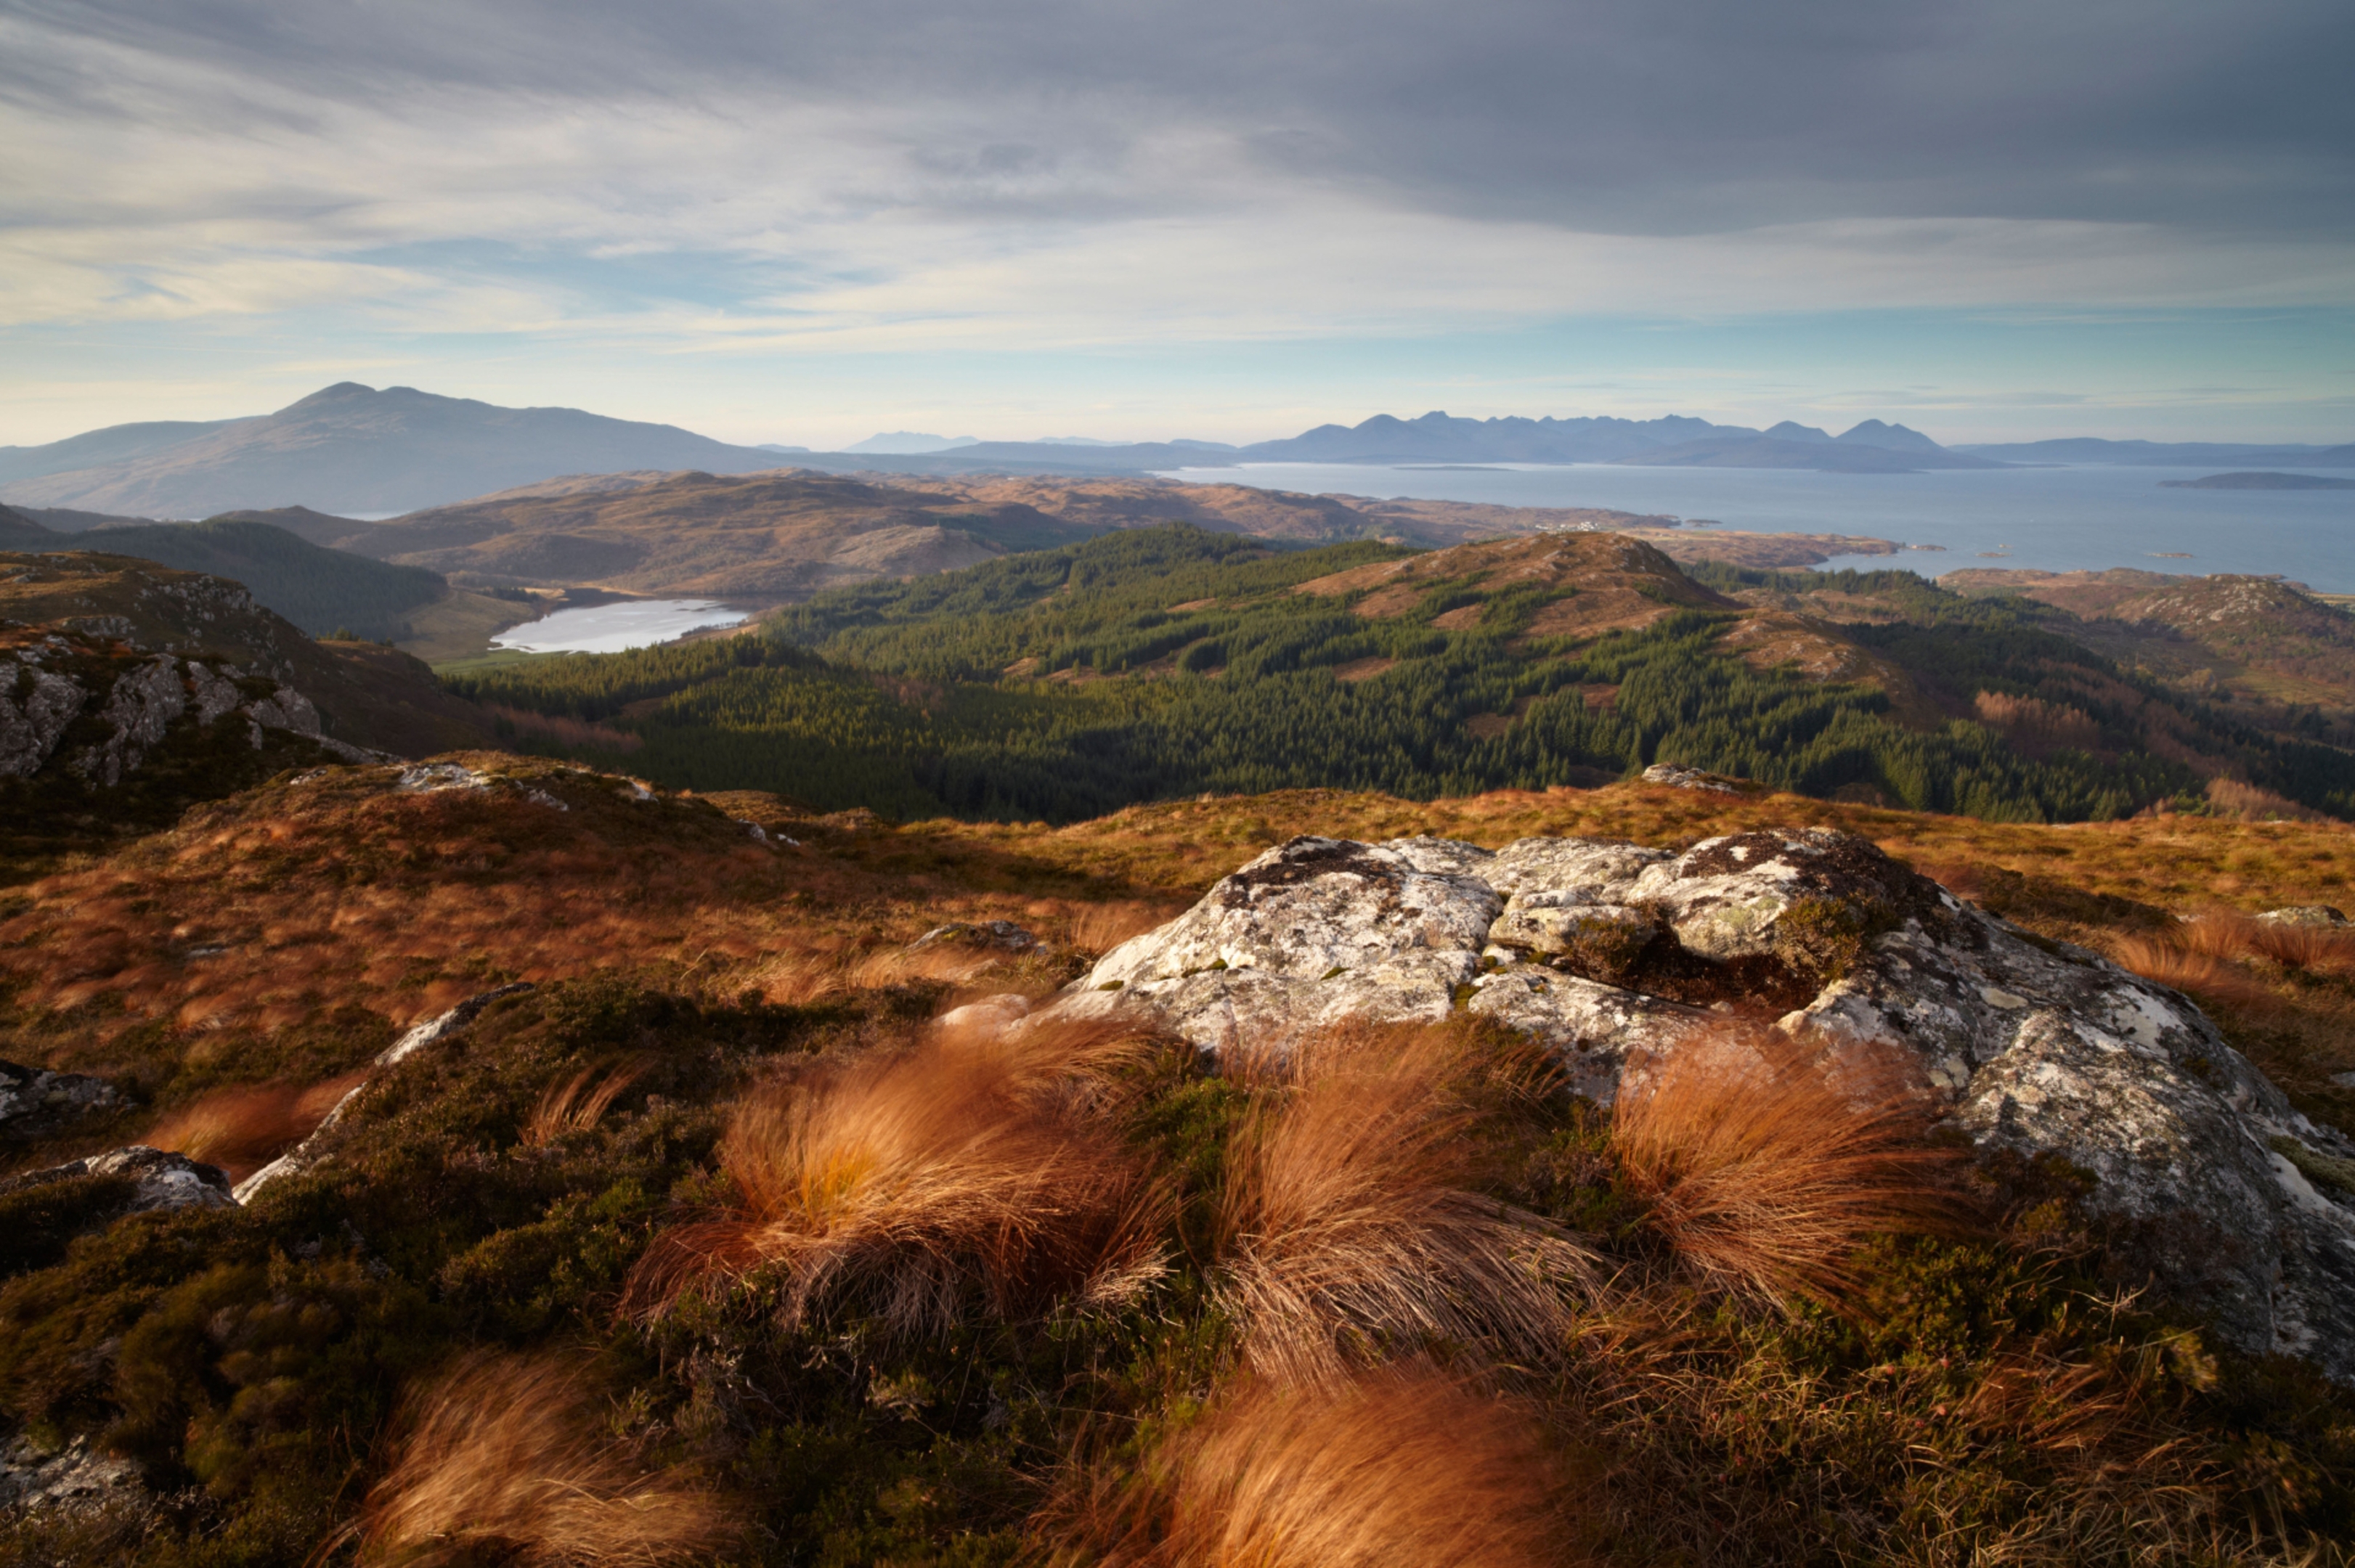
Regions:
<instances>
[{"instance_id":1,"label":"dark shadowed wooded slope left of the small white lake","mask_svg":"<svg viewBox=\"0 0 2355 1568\"><path fill-rule=\"evenodd\" d=\"M405 636L403 612L431 605L450 589L440 572L332 551L268 523L148 523L106 527L78 544L181 572L231 577L316 638Z\"/></svg>"}]
</instances>

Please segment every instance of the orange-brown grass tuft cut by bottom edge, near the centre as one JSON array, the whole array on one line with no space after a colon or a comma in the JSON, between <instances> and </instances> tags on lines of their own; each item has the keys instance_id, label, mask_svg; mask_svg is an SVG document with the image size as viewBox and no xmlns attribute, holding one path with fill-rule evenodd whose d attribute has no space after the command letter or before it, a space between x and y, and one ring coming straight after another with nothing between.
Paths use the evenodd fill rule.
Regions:
<instances>
[{"instance_id":1,"label":"orange-brown grass tuft cut by bottom edge, near the centre","mask_svg":"<svg viewBox=\"0 0 2355 1568\"><path fill-rule=\"evenodd\" d=\"M1564 1504L1514 1406L1380 1377L1246 1391L1039 1528L1060 1568L1538 1568L1571 1561Z\"/></svg>"}]
</instances>

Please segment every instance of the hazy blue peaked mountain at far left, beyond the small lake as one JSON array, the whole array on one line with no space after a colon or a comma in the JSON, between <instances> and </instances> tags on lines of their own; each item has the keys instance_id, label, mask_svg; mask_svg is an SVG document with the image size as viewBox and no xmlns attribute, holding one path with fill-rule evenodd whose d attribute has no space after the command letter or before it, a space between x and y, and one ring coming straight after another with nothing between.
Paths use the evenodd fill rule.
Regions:
<instances>
[{"instance_id":1,"label":"hazy blue peaked mountain at far left, beyond the small lake","mask_svg":"<svg viewBox=\"0 0 2355 1568\"><path fill-rule=\"evenodd\" d=\"M71 450L66 459L80 466L59 466L66 461L59 450ZM99 457L104 452L122 454ZM261 419L118 426L52 447L24 447L16 461L38 466L40 478L0 480L0 499L153 518L203 518L240 506L393 513L556 473L751 473L780 466L775 452L732 447L671 424L605 419L572 407L497 407L356 381L327 386Z\"/></svg>"}]
</instances>

